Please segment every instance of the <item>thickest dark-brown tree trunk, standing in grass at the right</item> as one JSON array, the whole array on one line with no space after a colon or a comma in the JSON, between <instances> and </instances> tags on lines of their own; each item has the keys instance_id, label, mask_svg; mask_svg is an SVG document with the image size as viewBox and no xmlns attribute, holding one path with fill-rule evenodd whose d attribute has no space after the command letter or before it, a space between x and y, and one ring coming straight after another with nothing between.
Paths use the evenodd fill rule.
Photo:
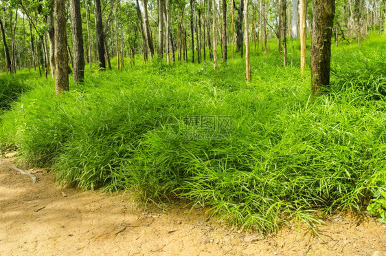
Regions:
<instances>
[{"instance_id":1,"label":"thickest dark-brown tree trunk, standing in grass at the right","mask_svg":"<svg viewBox=\"0 0 386 256\"><path fill-rule=\"evenodd\" d=\"M313 36L311 43L311 83L313 94L330 85L331 36L335 0L314 1Z\"/></svg>"}]
</instances>

